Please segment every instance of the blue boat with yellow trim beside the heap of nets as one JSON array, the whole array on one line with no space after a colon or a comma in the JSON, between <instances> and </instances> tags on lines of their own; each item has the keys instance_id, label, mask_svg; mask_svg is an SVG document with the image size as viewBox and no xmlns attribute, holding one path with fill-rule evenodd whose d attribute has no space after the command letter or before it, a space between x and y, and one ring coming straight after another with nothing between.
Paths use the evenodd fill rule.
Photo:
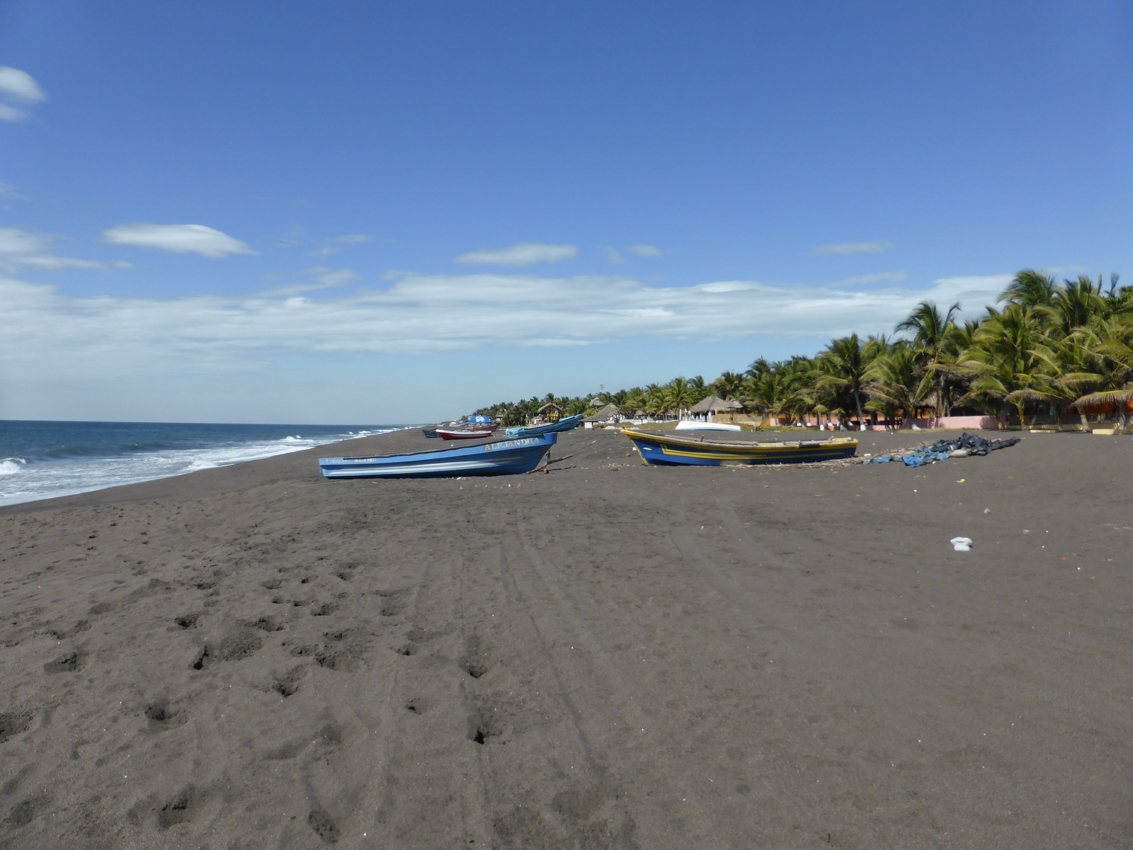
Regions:
<instances>
[{"instance_id":1,"label":"blue boat with yellow trim beside the heap of nets","mask_svg":"<svg viewBox=\"0 0 1133 850\"><path fill-rule=\"evenodd\" d=\"M813 464L852 458L853 437L759 443L716 436L622 428L645 464L651 466L755 466L759 464Z\"/></svg>"}]
</instances>

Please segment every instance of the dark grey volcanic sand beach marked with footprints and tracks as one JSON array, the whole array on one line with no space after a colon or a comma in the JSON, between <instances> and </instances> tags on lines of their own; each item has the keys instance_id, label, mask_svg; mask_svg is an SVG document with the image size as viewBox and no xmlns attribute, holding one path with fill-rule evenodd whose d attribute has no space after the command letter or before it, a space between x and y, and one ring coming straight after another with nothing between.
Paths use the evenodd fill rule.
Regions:
<instances>
[{"instance_id":1,"label":"dark grey volcanic sand beach marked with footprints and tracks","mask_svg":"<svg viewBox=\"0 0 1133 850\"><path fill-rule=\"evenodd\" d=\"M1133 440L315 462L435 445L0 509L0 847L1133 842Z\"/></svg>"}]
</instances>

